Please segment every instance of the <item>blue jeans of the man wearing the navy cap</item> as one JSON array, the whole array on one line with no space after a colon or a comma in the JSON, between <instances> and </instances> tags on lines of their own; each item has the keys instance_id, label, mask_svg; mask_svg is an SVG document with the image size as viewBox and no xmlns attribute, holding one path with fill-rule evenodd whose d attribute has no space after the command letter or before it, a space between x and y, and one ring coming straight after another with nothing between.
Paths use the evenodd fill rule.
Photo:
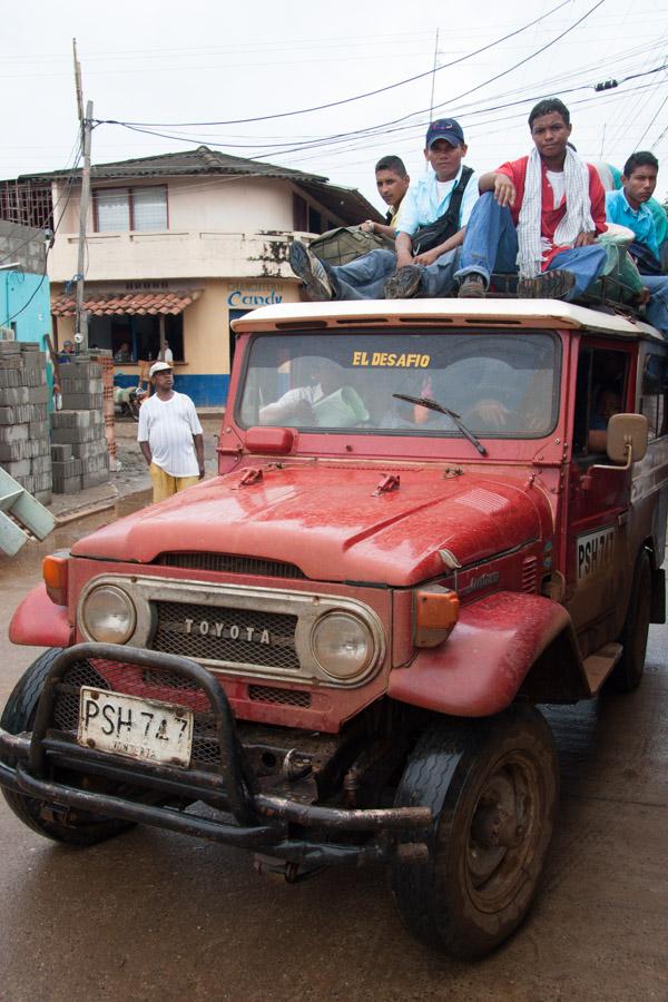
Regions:
<instances>
[{"instance_id":1,"label":"blue jeans of the man wearing the navy cap","mask_svg":"<svg viewBox=\"0 0 668 1002\"><path fill-rule=\"evenodd\" d=\"M454 285L456 250L449 250L426 268L422 268L422 297L446 296ZM370 250L346 265L323 262L333 278L335 299L384 299L385 282L394 274L396 255L393 250Z\"/></svg>"}]
</instances>

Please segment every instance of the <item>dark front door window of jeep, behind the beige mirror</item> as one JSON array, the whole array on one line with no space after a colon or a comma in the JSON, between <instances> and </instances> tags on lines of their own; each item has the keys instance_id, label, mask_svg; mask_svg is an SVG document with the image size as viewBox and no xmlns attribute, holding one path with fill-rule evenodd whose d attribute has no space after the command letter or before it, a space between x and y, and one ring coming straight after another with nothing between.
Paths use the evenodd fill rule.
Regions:
<instances>
[{"instance_id":1,"label":"dark front door window of jeep, behind the beige mirror","mask_svg":"<svg viewBox=\"0 0 668 1002\"><path fill-rule=\"evenodd\" d=\"M608 420L626 404L628 367L626 352L581 350L573 428L573 455L579 461L606 451Z\"/></svg>"}]
</instances>

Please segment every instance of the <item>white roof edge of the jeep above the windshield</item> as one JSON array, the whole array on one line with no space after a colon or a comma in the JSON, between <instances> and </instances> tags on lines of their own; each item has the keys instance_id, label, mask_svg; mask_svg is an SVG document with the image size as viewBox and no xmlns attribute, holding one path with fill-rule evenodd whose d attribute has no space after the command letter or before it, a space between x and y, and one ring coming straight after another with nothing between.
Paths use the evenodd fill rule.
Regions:
<instances>
[{"instance_id":1,"label":"white roof edge of the jeep above the windshield","mask_svg":"<svg viewBox=\"0 0 668 1002\"><path fill-rule=\"evenodd\" d=\"M289 331L311 325L342 330L353 324L392 326L429 323L453 326L558 327L664 342L649 324L560 299L341 299L259 306L232 322L237 333ZM313 330L313 327L311 327Z\"/></svg>"}]
</instances>

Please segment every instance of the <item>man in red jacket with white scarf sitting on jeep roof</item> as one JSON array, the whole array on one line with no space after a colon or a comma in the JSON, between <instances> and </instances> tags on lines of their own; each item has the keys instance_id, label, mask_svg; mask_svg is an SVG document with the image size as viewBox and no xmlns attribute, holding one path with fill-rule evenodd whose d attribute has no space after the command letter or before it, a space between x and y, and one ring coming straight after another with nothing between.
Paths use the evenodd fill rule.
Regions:
<instances>
[{"instance_id":1,"label":"man in red jacket with white scarf sitting on jeep roof","mask_svg":"<svg viewBox=\"0 0 668 1002\"><path fill-rule=\"evenodd\" d=\"M519 272L518 295L576 299L602 273L606 195L595 167L568 145L570 114L558 98L529 116L534 149L483 174L462 247L459 295L487 294L492 272Z\"/></svg>"}]
</instances>

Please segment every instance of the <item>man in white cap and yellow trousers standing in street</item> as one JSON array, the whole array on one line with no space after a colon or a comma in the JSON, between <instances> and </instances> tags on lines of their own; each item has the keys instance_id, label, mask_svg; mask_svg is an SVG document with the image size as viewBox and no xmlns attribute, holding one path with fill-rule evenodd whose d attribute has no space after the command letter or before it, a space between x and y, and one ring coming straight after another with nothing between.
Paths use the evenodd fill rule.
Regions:
<instances>
[{"instance_id":1,"label":"man in white cap and yellow trousers standing in street","mask_svg":"<svg viewBox=\"0 0 668 1002\"><path fill-rule=\"evenodd\" d=\"M174 390L168 362L149 370L155 393L139 410L137 441L147 462L154 503L185 491L204 477L204 435L195 404Z\"/></svg>"}]
</instances>

